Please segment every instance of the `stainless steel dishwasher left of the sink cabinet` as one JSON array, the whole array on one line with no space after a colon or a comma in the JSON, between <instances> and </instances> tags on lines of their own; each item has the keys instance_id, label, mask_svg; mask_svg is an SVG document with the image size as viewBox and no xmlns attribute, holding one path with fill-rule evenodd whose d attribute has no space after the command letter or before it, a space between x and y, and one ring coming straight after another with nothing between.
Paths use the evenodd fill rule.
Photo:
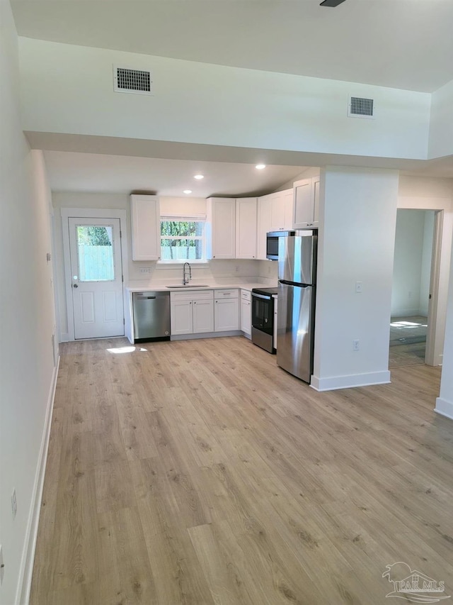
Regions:
<instances>
[{"instance_id":1,"label":"stainless steel dishwasher left of the sink cabinet","mask_svg":"<svg viewBox=\"0 0 453 605\"><path fill-rule=\"evenodd\" d=\"M132 292L134 340L170 340L170 292Z\"/></svg>"}]
</instances>

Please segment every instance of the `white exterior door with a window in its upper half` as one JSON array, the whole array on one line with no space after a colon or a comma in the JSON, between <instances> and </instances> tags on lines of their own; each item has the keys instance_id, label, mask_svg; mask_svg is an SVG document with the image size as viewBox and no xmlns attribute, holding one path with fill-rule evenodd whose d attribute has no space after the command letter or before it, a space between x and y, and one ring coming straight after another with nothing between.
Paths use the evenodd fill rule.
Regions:
<instances>
[{"instance_id":1,"label":"white exterior door with a window in its upper half","mask_svg":"<svg viewBox=\"0 0 453 605\"><path fill-rule=\"evenodd\" d=\"M74 338L125 333L119 218L68 218Z\"/></svg>"}]
</instances>

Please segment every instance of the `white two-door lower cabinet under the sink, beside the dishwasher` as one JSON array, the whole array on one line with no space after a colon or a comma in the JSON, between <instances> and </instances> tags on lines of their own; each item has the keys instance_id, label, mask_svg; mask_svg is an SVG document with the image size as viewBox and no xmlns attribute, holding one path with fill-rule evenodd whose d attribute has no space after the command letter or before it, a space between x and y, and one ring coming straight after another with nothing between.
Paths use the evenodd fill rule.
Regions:
<instances>
[{"instance_id":1,"label":"white two-door lower cabinet under the sink, beside the dishwasher","mask_svg":"<svg viewBox=\"0 0 453 605\"><path fill-rule=\"evenodd\" d=\"M171 335L200 334L214 331L214 294L171 292Z\"/></svg>"}]
</instances>

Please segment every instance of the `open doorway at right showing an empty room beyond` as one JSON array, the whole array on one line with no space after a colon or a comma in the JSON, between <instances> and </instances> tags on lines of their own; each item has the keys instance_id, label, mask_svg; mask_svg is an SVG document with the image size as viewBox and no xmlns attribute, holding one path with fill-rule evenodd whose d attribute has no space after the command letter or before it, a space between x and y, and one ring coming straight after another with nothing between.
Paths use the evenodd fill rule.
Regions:
<instances>
[{"instance_id":1,"label":"open doorway at right showing an empty room beyond","mask_svg":"<svg viewBox=\"0 0 453 605\"><path fill-rule=\"evenodd\" d=\"M389 367L430 364L436 291L434 210L398 209L391 295Z\"/></svg>"}]
</instances>

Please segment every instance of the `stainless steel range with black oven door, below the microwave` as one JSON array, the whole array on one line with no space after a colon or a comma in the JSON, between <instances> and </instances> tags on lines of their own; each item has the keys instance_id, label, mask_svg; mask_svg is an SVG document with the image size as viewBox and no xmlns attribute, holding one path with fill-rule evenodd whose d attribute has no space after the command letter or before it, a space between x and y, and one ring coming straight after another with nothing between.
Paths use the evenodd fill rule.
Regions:
<instances>
[{"instance_id":1,"label":"stainless steel range with black oven door, below the microwave","mask_svg":"<svg viewBox=\"0 0 453 605\"><path fill-rule=\"evenodd\" d=\"M274 301L277 288L252 290L252 343L276 353L274 342Z\"/></svg>"}]
</instances>

